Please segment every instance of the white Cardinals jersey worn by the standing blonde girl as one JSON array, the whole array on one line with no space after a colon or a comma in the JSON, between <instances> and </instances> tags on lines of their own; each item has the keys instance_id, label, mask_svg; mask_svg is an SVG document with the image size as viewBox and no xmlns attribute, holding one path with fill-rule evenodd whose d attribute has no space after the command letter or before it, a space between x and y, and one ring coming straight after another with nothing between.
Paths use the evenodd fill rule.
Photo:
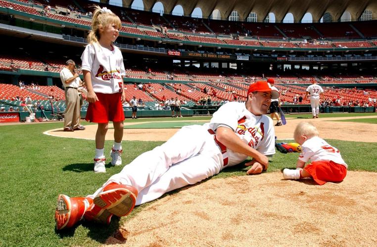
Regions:
<instances>
[{"instance_id":1,"label":"white Cardinals jersey worn by the standing blonde girl","mask_svg":"<svg viewBox=\"0 0 377 247\"><path fill-rule=\"evenodd\" d=\"M111 94L122 91L122 76L126 76L126 71L118 47L113 45L109 50L98 43L88 44L81 61L81 69L91 72L94 92Z\"/></svg>"}]
</instances>

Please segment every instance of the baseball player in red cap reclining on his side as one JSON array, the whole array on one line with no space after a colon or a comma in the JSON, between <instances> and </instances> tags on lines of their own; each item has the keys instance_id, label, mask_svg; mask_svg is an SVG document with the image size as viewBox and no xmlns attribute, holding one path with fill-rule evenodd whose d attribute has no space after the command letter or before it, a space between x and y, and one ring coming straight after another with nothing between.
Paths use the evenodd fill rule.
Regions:
<instances>
[{"instance_id":1,"label":"baseball player in red cap reclining on his side","mask_svg":"<svg viewBox=\"0 0 377 247\"><path fill-rule=\"evenodd\" d=\"M93 195L59 195L56 229L72 227L83 217L108 224L112 215L125 216L135 205L195 184L247 157L253 158L245 164L251 166L247 174L266 170L267 155L275 154L275 130L273 121L264 114L279 92L261 81L251 84L247 95L245 104L224 104L208 124L184 126L166 143L141 154L111 176Z\"/></svg>"}]
</instances>

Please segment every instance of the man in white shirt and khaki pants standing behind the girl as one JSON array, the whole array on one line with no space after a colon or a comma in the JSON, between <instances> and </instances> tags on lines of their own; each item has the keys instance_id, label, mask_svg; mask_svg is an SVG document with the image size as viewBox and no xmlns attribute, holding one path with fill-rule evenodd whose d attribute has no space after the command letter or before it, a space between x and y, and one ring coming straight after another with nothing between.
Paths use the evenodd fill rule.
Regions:
<instances>
[{"instance_id":1,"label":"man in white shirt and khaki pants standing behind the girl","mask_svg":"<svg viewBox=\"0 0 377 247\"><path fill-rule=\"evenodd\" d=\"M69 59L65 68L60 71L60 80L64 86L66 109L64 112L63 131L84 130L80 125L80 96L78 88L82 81L75 72L76 64Z\"/></svg>"}]
</instances>

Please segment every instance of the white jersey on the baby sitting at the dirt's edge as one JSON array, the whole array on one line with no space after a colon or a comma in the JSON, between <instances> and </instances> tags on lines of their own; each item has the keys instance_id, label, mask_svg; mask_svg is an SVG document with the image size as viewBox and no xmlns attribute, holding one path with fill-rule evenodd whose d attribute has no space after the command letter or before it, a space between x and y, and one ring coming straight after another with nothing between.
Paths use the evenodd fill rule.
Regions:
<instances>
[{"instance_id":1,"label":"white jersey on the baby sitting at the dirt's edge","mask_svg":"<svg viewBox=\"0 0 377 247\"><path fill-rule=\"evenodd\" d=\"M339 150L332 147L329 143L318 136L314 136L306 140L301 145L302 151L298 159L302 162L314 161L333 161L337 164L344 165L347 168L347 164L342 159Z\"/></svg>"}]
</instances>

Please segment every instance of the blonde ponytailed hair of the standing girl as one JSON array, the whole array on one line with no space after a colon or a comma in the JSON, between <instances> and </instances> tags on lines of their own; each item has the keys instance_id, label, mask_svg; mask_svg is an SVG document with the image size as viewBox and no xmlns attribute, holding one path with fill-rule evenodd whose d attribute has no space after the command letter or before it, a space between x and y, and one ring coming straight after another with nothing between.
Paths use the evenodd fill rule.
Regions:
<instances>
[{"instance_id":1,"label":"blonde ponytailed hair of the standing girl","mask_svg":"<svg viewBox=\"0 0 377 247\"><path fill-rule=\"evenodd\" d=\"M115 26L120 30L122 27L122 23L119 17L110 11L104 11L103 8L100 8L98 5L94 5L94 13L92 18L92 30L89 33L87 39L88 43L96 43L98 42L99 36L99 28L106 27L107 25L115 24Z\"/></svg>"}]
</instances>

